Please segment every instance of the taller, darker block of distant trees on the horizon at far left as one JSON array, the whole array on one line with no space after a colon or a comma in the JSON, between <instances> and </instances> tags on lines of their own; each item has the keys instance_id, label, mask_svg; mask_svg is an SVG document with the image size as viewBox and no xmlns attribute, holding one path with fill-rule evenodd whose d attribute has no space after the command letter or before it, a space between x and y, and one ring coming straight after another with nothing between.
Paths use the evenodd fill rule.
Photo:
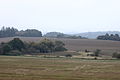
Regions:
<instances>
[{"instance_id":1,"label":"taller, darker block of distant trees on the horizon at far left","mask_svg":"<svg viewBox=\"0 0 120 80\"><path fill-rule=\"evenodd\" d=\"M22 36L22 37L42 37L42 32L36 29L27 29L18 31L16 28L10 27L2 27L0 30L0 38L3 37L14 37L14 36Z\"/></svg>"}]
</instances>

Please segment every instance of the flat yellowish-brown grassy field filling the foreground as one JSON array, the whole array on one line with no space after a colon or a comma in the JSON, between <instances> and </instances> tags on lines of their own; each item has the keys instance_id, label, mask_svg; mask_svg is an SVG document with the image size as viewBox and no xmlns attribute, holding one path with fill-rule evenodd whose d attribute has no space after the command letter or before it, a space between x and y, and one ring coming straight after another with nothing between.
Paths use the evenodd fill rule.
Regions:
<instances>
[{"instance_id":1,"label":"flat yellowish-brown grassy field filling the foreground","mask_svg":"<svg viewBox=\"0 0 120 80\"><path fill-rule=\"evenodd\" d=\"M120 60L0 56L0 80L120 80Z\"/></svg>"}]
</instances>

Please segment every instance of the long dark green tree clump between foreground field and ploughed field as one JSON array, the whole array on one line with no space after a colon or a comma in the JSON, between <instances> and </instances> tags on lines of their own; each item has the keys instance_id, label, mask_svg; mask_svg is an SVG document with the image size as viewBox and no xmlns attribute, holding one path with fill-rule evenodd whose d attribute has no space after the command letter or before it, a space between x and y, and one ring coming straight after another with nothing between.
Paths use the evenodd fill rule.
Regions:
<instances>
[{"instance_id":1,"label":"long dark green tree clump between foreground field and ploughed field","mask_svg":"<svg viewBox=\"0 0 120 80\"><path fill-rule=\"evenodd\" d=\"M0 44L1 55L24 55L35 53L51 53L56 51L66 51L65 44L61 41L51 41L43 39L39 43L23 42L19 38L14 38L8 43Z\"/></svg>"}]
</instances>

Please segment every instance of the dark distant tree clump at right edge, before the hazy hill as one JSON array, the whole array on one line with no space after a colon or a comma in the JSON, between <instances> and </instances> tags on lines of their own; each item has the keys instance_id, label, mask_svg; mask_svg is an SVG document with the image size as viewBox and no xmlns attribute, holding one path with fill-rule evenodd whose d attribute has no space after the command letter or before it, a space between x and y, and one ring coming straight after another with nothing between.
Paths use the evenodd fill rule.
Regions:
<instances>
[{"instance_id":1,"label":"dark distant tree clump at right edge, before the hazy hill","mask_svg":"<svg viewBox=\"0 0 120 80\"><path fill-rule=\"evenodd\" d=\"M114 41L120 41L120 36L118 34L105 34L98 36L97 39L99 40L114 40Z\"/></svg>"}]
</instances>

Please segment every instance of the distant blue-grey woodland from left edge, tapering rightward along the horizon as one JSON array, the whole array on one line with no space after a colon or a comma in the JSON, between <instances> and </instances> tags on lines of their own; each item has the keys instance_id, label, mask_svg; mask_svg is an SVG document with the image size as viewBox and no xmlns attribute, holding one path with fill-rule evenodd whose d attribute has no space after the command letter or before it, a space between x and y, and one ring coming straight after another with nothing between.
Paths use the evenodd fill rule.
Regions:
<instances>
[{"instance_id":1,"label":"distant blue-grey woodland from left edge, tapering rightward along the horizon","mask_svg":"<svg viewBox=\"0 0 120 80\"><path fill-rule=\"evenodd\" d=\"M60 32L49 32L45 35L42 35L42 32L36 29L27 29L19 31L16 28L11 27L2 27L0 30L0 38L4 37L50 37L50 38L71 38L71 39L86 39L82 36L67 35Z\"/></svg>"}]
</instances>

